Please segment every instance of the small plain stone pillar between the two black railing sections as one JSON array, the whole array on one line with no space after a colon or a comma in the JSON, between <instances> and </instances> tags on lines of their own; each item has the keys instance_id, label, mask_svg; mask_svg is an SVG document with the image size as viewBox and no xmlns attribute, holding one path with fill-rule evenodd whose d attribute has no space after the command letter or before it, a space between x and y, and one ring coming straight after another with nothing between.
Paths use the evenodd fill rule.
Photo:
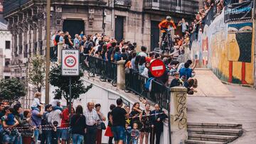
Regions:
<instances>
[{"instance_id":1,"label":"small plain stone pillar between the two black railing sections","mask_svg":"<svg viewBox=\"0 0 256 144\"><path fill-rule=\"evenodd\" d=\"M124 62L125 60L117 62L117 89L124 89L125 87Z\"/></svg>"}]
</instances>

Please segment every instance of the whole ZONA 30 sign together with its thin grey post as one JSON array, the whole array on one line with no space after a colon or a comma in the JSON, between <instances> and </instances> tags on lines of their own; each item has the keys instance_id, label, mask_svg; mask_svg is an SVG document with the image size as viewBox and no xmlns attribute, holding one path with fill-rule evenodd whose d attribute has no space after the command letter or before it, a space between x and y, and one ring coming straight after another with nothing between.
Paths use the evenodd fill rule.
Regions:
<instances>
[{"instance_id":1,"label":"whole ZONA 30 sign together with its thin grey post","mask_svg":"<svg viewBox=\"0 0 256 144\"><path fill-rule=\"evenodd\" d=\"M79 76L79 51L78 50L62 50L61 52L61 74L69 77L69 113L71 113L71 101L72 101L72 78ZM70 116L71 122L71 116ZM69 124L70 126L70 124ZM68 140L70 143L70 138Z\"/></svg>"}]
</instances>

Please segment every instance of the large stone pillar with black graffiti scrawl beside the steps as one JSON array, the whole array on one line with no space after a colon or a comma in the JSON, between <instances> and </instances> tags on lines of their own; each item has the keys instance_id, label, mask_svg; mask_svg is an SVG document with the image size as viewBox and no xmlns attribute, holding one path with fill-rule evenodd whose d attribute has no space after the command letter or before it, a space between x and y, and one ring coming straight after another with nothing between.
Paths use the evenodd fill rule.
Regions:
<instances>
[{"instance_id":1,"label":"large stone pillar with black graffiti scrawl beside the steps","mask_svg":"<svg viewBox=\"0 0 256 144\"><path fill-rule=\"evenodd\" d=\"M171 88L171 143L184 143L188 138L186 92L184 87Z\"/></svg>"}]
</instances>

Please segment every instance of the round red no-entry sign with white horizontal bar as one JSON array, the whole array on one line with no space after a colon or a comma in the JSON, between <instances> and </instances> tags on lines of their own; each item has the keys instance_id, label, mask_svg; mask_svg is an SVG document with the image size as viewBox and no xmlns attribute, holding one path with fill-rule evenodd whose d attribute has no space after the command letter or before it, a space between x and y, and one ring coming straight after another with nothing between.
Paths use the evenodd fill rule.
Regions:
<instances>
[{"instance_id":1,"label":"round red no-entry sign with white horizontal bar","mask_svg":"<svg viewBox=\"0 0 256 144\"><path fill-rule=\"evenodd\" d=\"M149 70L154 77L161 77L166 71L164 62L161 60L154 60L149 66Z\"/></svg>"}]
</instances>

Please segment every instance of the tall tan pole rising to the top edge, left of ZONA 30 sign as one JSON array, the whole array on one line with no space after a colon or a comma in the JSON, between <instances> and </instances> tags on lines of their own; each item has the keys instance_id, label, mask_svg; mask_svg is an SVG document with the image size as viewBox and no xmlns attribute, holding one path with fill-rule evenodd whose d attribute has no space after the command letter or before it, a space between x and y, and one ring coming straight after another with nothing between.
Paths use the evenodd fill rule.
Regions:
<instances>
[{"instance_id":1,"label":"tall tan pole rising to the top edge, left of ZONA 30 sign","mask_svg":"<svg viewBox=\"0 0 256 144\"><path fill-rule=\"evenodd\" d=\"M46 104L49 104L49 71L50 71L50 0L46 6Z\"/></svg>"}]
</instances>

